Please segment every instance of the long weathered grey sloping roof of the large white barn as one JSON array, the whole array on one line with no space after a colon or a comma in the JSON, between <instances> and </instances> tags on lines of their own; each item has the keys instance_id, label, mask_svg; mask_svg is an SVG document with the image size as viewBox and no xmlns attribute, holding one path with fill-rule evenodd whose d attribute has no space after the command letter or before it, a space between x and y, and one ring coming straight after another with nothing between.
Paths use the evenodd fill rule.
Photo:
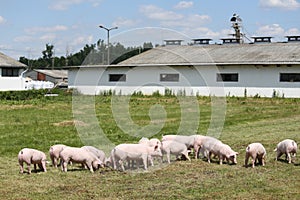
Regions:
<instances>
[{"instance_id":1,"label":"long weathered grey sloping roof of the large white barn","mask_svg":"<svg viewBox=\"0 0 300 200\"><path fill-rule=\"evenodd\" d=\"M300 64L300 42L161 46L118 66Z\"/></svg>"}]
</instances>

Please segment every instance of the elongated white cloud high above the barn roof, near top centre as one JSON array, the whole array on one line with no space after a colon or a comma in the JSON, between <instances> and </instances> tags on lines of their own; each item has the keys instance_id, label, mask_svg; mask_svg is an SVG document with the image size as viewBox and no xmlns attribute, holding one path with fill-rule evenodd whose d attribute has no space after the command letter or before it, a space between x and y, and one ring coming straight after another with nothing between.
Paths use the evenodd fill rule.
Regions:
<instances>
[{"instance_id":1,"label":"elongated white cloud high above the barn roof, near top centre","mask_svg":"<svg viewBox=\"0 0 300 200\"><path fill-rule=\"evenodd\" d=\"M183 16L173 11L167 11L154 5L146 5L140 8L140 12L149 19L154 20L179 20Z\"/></svg>"}]
</instances>

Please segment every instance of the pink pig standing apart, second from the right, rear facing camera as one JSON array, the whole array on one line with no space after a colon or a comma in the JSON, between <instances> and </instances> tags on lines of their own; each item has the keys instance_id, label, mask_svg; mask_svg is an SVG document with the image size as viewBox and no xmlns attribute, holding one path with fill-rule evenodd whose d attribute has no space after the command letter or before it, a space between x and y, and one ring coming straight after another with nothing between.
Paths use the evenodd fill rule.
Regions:
<instances>
[{"instance_id":1,"label":"pink pig standing apart, second from the right, rear facing camera","mask_svg":"<svg viewBox=\"0 0 300 200\"><path fill-rule=\"evenodd\" d=\"M252 168L255 167L256 161L265 166L266 149L261 143L249 144L246 148L245 167L248 167L248 160L252 158Z\"/></svg>"}]
</instances>

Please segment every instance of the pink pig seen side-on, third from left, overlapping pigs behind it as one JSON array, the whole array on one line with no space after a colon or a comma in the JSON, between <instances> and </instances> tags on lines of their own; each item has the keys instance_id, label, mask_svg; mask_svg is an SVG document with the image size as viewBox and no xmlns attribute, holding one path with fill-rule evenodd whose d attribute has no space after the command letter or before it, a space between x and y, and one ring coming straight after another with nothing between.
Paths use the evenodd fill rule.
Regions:
<instances>
[{"instance_id":1,"label":"pink pig seen side-on, third from left, overlapping pigs behind it","mask_svg":"<svg viewBox=\"0 0 300 200\"><path fill-rule=\"evenodd\" d=\"M61 159L62 171L64 172L67 171L67 165L70 161L87 166L92 173L94 169L99 168L99 165L103 165L94 154L83 148L66 147L60 152L59 157Z\"/></svg>"}]
</instances>

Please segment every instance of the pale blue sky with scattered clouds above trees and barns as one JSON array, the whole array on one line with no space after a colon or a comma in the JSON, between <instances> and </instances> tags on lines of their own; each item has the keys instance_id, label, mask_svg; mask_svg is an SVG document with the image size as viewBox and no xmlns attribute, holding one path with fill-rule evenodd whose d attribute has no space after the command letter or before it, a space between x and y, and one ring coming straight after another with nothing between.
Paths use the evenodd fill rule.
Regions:
<instances>
[{"instance_id":1,"label":"pale blue sky with scattered clouds above trees and barns","mask_svg":"<svg viewBox=\"0 0 300 200\"><path fill-rule=\"evenodd\" d=\"M233 14L242 19L242 32L271 36L273 42L300 35L299 0L1 0L0 52L15 58L42 57L46 44L55 56L74 54L99 39L124 46L164 40L221 38L233 33ZM247 41L246 41L247 42Z\"/></svg>"}]
</instances>

